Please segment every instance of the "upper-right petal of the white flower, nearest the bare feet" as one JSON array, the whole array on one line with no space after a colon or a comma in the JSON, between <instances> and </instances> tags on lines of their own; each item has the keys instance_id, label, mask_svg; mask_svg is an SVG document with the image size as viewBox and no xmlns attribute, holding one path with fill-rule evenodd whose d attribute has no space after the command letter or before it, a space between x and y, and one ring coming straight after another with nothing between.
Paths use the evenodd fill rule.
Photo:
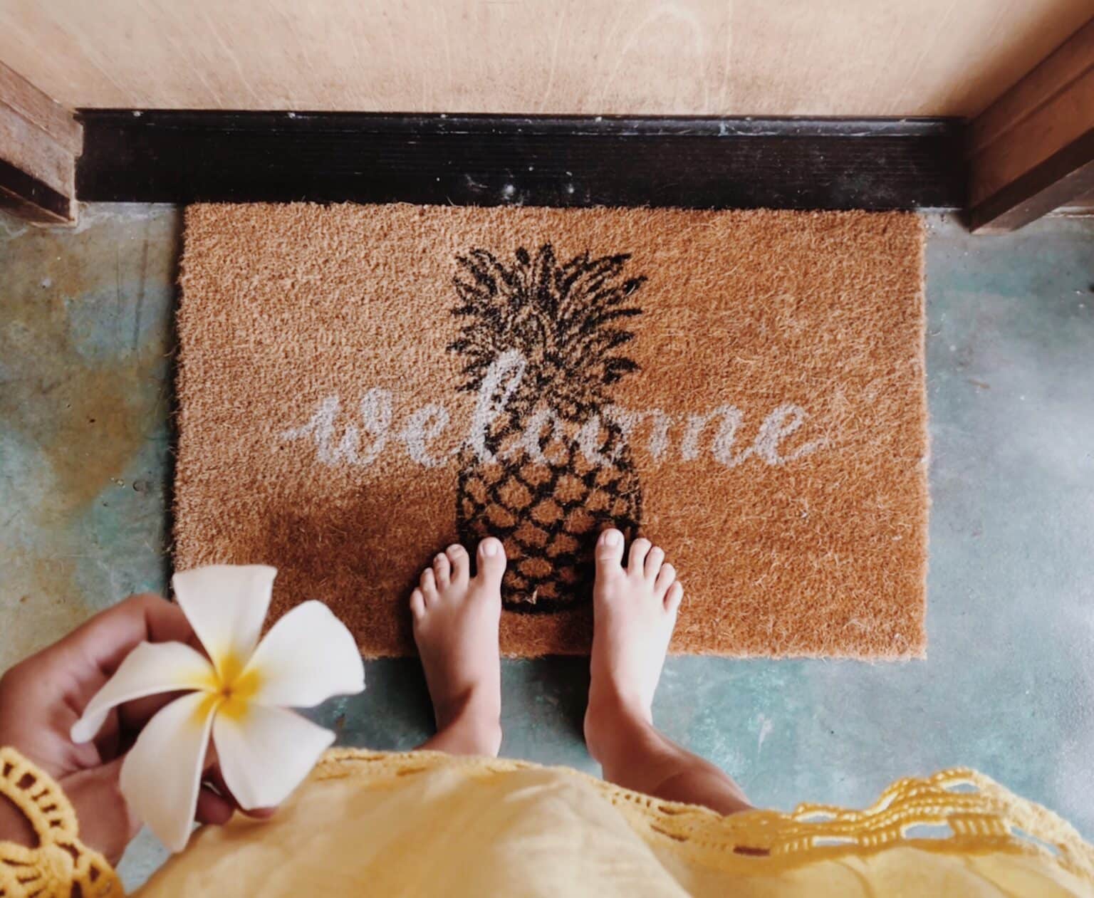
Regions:
<instances>
[{"instance_id":1,"label":"upper-right petal of the white flower, nearest the bare feet","mask_svg":"<svg viewBox=\"0 0 1094 898\"><path fill-rule=\"evenodd\" d=\"M357 642L322 602L298 605L275 623L245 673L255 676L251 701L268 705L311 708L364 689Z\"/></svg>"}]
</instances>

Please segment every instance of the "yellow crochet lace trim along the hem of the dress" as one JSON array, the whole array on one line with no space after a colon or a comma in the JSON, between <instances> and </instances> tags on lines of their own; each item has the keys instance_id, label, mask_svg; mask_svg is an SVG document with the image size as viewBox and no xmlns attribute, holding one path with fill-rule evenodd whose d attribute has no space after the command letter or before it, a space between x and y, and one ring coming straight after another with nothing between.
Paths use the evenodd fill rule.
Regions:
<instances>
[{"instance_id":1,"label":"yellow crochet lace trim along the hem of the dress","mask_svg":"<svg viewBox=\"0 0 1094 898\"><path fill-rule=\"evenodd\" d=\"M354 778L374 788L394 788L401 778L442 767L487 779L537 765L434 751L333 749L313 778ZM801 804L790 814L747 810L730 816L664 802L577 770L566 772L597 790L647 841L726 873L771 873L904 844L946 854L1038 854L1094 883L1094 848L1070 824L975 770L955 768L897 780L862 810Z\"/></svg>"}]
</instances>

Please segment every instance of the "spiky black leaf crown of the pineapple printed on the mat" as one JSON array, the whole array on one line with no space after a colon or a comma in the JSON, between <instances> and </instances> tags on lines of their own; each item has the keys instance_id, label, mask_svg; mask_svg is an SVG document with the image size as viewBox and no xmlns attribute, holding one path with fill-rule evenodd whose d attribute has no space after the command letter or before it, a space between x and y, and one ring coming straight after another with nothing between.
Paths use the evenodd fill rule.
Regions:
<instances>
[{"instance_id":1,"label":"spiky black leaf crown of the pineapple printed on the mat","mask_svg":"<svg viewBox=\"0 0 1094 898\"><path fill-rule=\"evenodd\" d=\"M511 401L531 409L540 399L560 415L595 413L607 388L638 370L620 347L635 335L624 325L642 310L631 303L644 277L626 277L630 254L559 263L547 243L533 257L526 248L507 265L486 249L457 256L453 279L464 318L449 349L466 360L461 389L476 392L494 360L517 350L527 361Z\"/></svg>"}]
</instances>

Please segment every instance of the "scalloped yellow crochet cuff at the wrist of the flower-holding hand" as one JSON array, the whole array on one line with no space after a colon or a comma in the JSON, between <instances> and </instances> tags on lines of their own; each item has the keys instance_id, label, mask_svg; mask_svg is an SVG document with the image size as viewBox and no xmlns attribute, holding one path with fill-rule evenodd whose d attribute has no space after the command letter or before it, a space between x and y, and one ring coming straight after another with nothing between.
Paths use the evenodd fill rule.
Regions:
<instances>
[{"instance_id":1,"label":"scalloped yellow crochet cuff at the wrist of the flower-holding hand","mask_svg":"<svg viewBox=\"0 0 1094 898\"><path fill-rule=\"evenodd\" d=\"M0 898L83 898L125 895L114 867L80 841L75 812L61 788L14 748L0 748L0 795L34 828L34 848L0 841Z\"/></svg>"}]
</instances>

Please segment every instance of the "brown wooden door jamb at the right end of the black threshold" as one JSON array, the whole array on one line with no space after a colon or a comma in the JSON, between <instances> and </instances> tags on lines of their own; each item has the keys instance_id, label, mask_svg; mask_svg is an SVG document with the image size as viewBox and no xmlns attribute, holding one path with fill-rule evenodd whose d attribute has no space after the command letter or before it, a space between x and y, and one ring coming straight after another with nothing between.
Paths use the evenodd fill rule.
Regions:
<instances>
[{"instance_id":1,"label":"brown wooden door jamb at the right end of the black threshold","mask_svg":"<svg viewBox=\"0 0 1094 898\"><path fill-rule=\"evenodd\" d=\"M1094 19L968 128L969 225L1013 231L1094 187Z\"/></svg>"}]
</instances>

